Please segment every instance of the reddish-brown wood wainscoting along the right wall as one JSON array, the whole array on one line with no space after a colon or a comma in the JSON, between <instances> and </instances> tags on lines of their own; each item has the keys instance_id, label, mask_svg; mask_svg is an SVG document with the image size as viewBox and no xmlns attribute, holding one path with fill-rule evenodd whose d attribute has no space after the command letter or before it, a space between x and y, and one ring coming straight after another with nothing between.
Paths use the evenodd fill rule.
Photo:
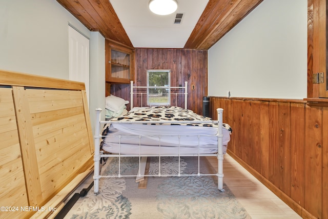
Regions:
<instances>
[{"instance_id":1,"label":"reddish-brown wood wainscoting along the right wall","mask_svg":"<svg viewBox=\"0 0 328 219\"><path fill-rule=\"evenodd\" d=\"M328 218L328 107L211 97L233 129L228 153L303 218Z\"/></svg>"}]
</instances>

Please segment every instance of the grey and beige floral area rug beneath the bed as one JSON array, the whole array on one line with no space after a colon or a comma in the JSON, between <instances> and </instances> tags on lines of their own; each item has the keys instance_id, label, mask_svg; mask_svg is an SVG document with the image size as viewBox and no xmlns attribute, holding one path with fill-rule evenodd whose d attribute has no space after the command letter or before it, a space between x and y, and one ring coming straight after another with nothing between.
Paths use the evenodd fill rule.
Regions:
<instances>
[{"instance_id":1,"label":"grey and beige floral area rug beneath the bed","mask_svg":"<svg viewBox=\"0 0 328 219\"><path fill-rule=\"evenodd\" d=\"M149 174L176 174L177 157L149 158ZM201 170L206 164L201 162ZM121 174L136 174L138 157L121 158ZM106 164L106 173L117 173L118 160ZM180 172L197 173L198 158L180 158ZM202 171L200 171L203 173ZM104 174L104 173L102 173ZM99 194L93 188L65 218L251 218L236 200L227 185L224 192L217 189L212 176L149 176L147 189L138 189L135 177L100 178Z\"/></svg>"}]
</instances>

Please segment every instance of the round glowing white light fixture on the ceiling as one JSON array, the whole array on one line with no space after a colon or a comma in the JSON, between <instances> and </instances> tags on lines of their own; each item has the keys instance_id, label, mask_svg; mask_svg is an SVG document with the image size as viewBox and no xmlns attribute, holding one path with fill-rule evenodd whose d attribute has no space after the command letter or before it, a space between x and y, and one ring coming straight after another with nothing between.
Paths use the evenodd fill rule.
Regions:
<instances>
[{"instance_id":1,"label":"round glowing white light fixture on the ceiling","mask_svg":"<svg viewBox=\"0 0 328 219\"><path fill-rule=\"evenodd\" d=\"M151 0L149 9L158 15L172 14L178 8L178 3L175 0Z\"/></svg>"}]
</instances>

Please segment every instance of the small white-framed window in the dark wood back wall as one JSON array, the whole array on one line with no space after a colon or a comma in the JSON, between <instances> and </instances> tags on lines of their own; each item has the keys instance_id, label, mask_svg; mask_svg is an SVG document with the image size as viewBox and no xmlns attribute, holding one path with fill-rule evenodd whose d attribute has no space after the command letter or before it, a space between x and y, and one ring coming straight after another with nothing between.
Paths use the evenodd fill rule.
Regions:
<instances>
[{"instance_id":1,"label":"small white-framed window in the dark wood back wall","mask_svg":"<svg viewBox=\"0 0 328 219\"><path fill-rule=\"evenodd\" d=\"M170 105L170 70L147 71L147 105Z\"/></svg>"}]
</instances>

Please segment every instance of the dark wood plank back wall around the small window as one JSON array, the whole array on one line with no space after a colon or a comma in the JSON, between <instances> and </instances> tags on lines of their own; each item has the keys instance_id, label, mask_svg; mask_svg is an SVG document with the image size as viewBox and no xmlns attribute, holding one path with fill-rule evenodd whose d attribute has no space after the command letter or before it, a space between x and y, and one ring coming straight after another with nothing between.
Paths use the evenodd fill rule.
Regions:
<instances>
[{"instance_id":1,"label":"dark wood plank back wall around the small window","mask_svg":"<svg viewBox=\"0 0 328 219\"><path fill-rule=\"evenodd\" d=\"M147 86L147 70L171 69L171 86L184 86L188 82L188 109L202 114L202 97L207 96L207 50L192 49L136 49L136 73L137 86ZM195 89L191 89L195 85ZM111 94L130 99L130 85L112 84ZM146 106L147 97L142 98L143 106ZM134 100L135 106L140 106L141 98ZM178 98L177 106L184 106L184 98ZM172 105L175 105L174 99ZM130 106L128 105L128 108Z\"/></svg>"}]
</instances>

